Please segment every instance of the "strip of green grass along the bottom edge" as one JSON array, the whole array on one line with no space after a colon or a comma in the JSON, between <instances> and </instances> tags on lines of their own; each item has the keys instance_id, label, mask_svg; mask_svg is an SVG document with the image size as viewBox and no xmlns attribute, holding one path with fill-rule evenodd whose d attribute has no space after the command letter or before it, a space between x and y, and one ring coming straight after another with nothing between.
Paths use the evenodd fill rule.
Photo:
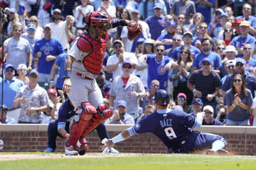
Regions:
<instances>
[{"instance_id":1,"label":"strip of green grass along the bottom edge","mask_svg":"<svg viewBox=\"0 0 256 170\"><path fill-rule=\"evenodd\" d=\"M65 156L64 156L65 158ZM0 161L0 169L256 169L256 157L193 154L145 154L138 157L106 157L71 159L30 159Z\"/></svg>"}]
</instances>

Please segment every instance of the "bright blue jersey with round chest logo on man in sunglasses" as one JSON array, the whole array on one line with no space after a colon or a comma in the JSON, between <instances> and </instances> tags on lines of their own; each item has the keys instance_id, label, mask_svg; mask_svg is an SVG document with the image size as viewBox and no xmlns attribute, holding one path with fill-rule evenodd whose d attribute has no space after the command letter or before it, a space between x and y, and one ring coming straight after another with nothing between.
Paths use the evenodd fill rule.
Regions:
<instances>
[{"instance_id":1,"label":"bright blue jersey with round chest logo on man in sunglasses","mask_svg":"<svg viewBox=\"0 0 256 170\"><path fill-rule=\"evenodd\" d=\"M156 60L156 54L147 54L148 64L148 87L152 80L156 79L160 83L160 89L167 90L167 81L169 70L165 70L164 66L170 62L170 57L163 56L161 61Z\"/></svg>"}]
</instances>

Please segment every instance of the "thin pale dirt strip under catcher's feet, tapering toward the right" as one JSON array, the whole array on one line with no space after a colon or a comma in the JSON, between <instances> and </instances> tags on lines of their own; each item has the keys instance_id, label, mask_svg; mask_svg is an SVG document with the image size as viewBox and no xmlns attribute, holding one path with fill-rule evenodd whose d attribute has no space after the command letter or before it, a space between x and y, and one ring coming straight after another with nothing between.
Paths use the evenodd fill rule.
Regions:
<instances>
[{"instance_id":1,"label":"thin pale dirt strip under catcher's feet, tapering toward the right","mask_svg":"<svg viewBox=\"0 0 256 170\"><path fill-rule=\"evenodd\" d=\"M148 155L147 153L86 153L83 156L68 156L61 153L0 153L0 161L4 160L22 160L22 159L55 159L55 158L99 158L99 157L137 157Z\"/></svg>"}]
</instances>

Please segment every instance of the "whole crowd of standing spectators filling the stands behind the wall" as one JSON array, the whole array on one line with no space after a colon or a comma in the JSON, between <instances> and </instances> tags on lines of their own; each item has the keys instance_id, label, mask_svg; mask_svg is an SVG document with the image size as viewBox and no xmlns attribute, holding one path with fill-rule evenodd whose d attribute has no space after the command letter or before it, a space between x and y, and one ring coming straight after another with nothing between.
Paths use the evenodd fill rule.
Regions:
<instances>
[{"instance_id":1,"label":"whole crowd of standing spectators filling the stands behind the wall","mask_svg":"<svg viewBox=\"0 0 256 170\"><path fill-rule=\"evenodd\" d=\"M256 125L256 1L4 0L0 6L10 8L0 26L1 122L58 119L70 44L83 33L86 13L102 11L143 28L134 41L125 26L109 31L95 78L114 110L106 124L136 124L156 110L152 97L164 89L170 109L195 117L204 111L203 125Z\"/></svg>"}]
</instances>

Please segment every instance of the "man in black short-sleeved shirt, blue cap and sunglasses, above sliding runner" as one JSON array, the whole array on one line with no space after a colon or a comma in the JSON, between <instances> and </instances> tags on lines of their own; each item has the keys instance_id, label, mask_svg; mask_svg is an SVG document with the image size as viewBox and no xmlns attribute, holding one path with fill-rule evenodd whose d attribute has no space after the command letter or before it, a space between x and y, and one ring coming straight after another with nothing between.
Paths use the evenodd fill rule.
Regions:
<instances>
[{"instance_id":1,"label":"man in black short-sleeved shirt, blue cap and sunglasses, above sliding runner","mask_svg":"<svg viewBox=\"0 0 256 170\"><path fill-rule=\"evenodd\" d=\"M187 82L188 89L196 97L201 98L205 105L211 105L216 110L215 96L221 87L220 76L215 71L212 71L212 60L208 57L201 60L201 67L202 69L196 70L189 77Z\"/></svg>"}]
</instances>

